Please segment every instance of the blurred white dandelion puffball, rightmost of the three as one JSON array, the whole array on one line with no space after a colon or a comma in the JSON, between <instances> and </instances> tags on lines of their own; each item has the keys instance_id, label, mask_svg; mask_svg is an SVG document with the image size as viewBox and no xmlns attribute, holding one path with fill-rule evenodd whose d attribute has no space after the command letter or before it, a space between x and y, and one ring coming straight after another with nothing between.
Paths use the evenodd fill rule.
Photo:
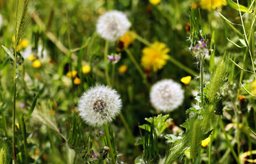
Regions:
<instances>
[{"instance_id":1,"label":"blurred white dandelion puffball, rightmost of the three","mask_svg":"<svg viewBox=\"0 0 256 164\"><path fill-rule=\"evenodd\" d=\"M155 109L168 112L173 111L184 99L181 85L171 79L158 81L151 88L150 100Z\"/></svg>"}]
</instances>

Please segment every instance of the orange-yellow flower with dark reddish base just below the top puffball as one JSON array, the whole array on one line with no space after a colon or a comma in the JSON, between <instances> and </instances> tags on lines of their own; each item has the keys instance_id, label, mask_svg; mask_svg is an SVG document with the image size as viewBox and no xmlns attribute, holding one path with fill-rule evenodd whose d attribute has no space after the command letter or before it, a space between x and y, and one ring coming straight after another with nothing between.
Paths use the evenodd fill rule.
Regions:
<instances>
[{"instance_id":1,"label":"orange-yellow flower with dark reddish base just below the top puffball","mask_svg":"<svg viewBox=\"0 0 256 164\"><path fill-rule=\"evenodd\" d=\"M117 42L117 51L122 51L123 48L127 48L135 38L131 33L135 33L134 31L127 32L123 35Z\"/></svg>"}]
</instances>

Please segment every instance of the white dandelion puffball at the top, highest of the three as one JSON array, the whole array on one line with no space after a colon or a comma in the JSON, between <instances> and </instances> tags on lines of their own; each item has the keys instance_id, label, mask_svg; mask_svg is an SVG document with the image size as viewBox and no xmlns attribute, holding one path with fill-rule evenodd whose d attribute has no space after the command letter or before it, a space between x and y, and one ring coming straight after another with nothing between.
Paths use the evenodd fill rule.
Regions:
<instances>
[{"instance_id":1,"label":"white dandelion puffball at the top, highest of the three","mask_svg":"<svg viewBox=\"0 0 256 164\"><path fill-rule=\"evenodd\" d=\"M97 33L105 40L116 41L131 27L127 16L116 10L105 12L97 22Z\"/></svg>"}]
</instances>

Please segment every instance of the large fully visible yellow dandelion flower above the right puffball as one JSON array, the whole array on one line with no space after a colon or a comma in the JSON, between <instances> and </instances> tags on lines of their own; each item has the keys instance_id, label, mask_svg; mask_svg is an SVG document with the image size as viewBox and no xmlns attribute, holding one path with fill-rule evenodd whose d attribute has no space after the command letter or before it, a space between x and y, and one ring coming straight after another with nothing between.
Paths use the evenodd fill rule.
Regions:
<instances>
[{"instance_id":1,"label":"large fully visible yellow dandelion flower above the right puffball","mask_svg":"<svg viewBox=\"0 0 256 164\"><path fill-rule=\"evenodd\" d=\"M168 52L170 49L166 47L166 44L162 42L154 42L150 47L146 47L142 50L141 64L144 68L153 68L157 71L166 65L166 60L170 57Z\"/></svg>"}]
</instances>

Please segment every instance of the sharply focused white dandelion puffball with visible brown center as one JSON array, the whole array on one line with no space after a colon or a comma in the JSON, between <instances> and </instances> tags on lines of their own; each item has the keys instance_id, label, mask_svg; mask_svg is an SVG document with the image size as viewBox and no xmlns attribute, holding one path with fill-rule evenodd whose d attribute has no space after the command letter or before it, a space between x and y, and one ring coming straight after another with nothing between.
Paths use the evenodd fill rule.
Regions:
<instances>
[{"instance_id":1,"label":"sharply focused white dandelion puffball with visible brown center","mask_svg":"<svg viewBox=\"0 0 256 164\"><path fill-rule=\"evenodd\" d=\"M78 102L81 118L90 126L101 126L120 113L122 101L116 90L105 85L91 87Z\"/></svg>"}]
</instances>

